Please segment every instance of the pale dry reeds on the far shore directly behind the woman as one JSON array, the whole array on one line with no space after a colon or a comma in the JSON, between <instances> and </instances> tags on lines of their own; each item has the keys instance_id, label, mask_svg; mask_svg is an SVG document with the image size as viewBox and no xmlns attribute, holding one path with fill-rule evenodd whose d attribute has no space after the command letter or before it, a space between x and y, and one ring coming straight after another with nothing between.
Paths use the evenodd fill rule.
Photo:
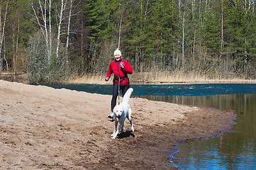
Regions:
<instances>
[{"instance_id":1,"label":"pale dry reeds on the far shore directly behind the woman","mask_svg":"<svg viewBox=\"0 0 256 170\"><path fill-rule=\"evenodd\" d=\"M106 74L87 74L84 77L75 77L69 79L69 84L112 84L112 79L105 81ZM112 76L113 77L113 76ZM143 72L133 73L128 76L130 84L256 84L256 80L248 80L242 78L214 77L210 79L205 74L196 72Z\"/></svg>"}]
</instances>

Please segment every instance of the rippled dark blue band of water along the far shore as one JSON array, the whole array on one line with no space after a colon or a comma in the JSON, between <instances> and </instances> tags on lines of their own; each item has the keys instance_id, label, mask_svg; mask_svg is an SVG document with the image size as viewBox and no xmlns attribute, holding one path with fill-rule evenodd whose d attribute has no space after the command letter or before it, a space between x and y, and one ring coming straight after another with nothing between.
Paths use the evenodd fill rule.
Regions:
<instances>
[{"instance_id":1,"label":"rippled dark blue band of water along the far shore","mask_svg":"<svg viewBox=\"0 0 256 170\"><path fill-rule=\"evenodd\" d=\"M112 85L101 84L48 84L56 89L112 94ZM130 85L134 96L212 96L220 94L256 94L256 84L171 84Z\"/></svg>"}]
</instances>

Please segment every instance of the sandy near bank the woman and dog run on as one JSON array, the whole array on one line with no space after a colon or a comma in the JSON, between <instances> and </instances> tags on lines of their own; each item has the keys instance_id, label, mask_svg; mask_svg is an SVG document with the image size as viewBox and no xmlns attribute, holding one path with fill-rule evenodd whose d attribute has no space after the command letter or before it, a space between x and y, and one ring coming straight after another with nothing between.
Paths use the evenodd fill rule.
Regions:
<instances>
[{"instance_id":1,"label":"sandy near bank the woman and dog run on","mask_svg":"<svg viewBox=\"0 0 256 170\"><path fill-rule=\"evenodd\" d=\"M131 98L135 132L111 140L111 96L0 80L0 169L175 169L177 142L230 129L233 111Z\"/></svg>"}]
</instances>

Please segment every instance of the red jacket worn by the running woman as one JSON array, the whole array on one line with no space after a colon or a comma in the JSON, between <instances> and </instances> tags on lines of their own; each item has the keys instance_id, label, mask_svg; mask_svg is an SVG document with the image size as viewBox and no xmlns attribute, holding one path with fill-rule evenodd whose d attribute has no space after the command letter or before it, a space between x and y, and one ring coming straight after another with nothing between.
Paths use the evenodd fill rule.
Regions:
<instances>
[{"instance_id":1,"label":"red jacket worn by the running woman","mask_svg":"<svg viewBox=\"0 0 256 170\"><path fill-rule=\"evenodd\" d=\"M121 68L120 63L123 62L124 68ZM127 77L127 74L133 74L133 67L131 67L130 63L126 60L119 60L111 62L111 64L108 67L108 74L106 74L106 77L111 77L111 74L113 73L116 77L121 77L120 79L120 85L125 86L129 84L129 80ZM114 79L114 82L116 84L119 84L119 79Z\"/></svg>"}]
</instances>

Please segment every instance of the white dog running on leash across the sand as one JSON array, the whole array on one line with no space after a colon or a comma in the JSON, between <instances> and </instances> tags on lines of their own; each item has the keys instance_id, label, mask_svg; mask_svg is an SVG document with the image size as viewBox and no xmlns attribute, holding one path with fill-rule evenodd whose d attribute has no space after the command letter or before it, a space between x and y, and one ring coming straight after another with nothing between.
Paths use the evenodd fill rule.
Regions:
<instances>
[{"instance_id":1,"label":"white dog running on leash across the sand","mask_svg":"<svg viewBox=\"0 0 256 170\"><path fill-rule=\"evenodd\" d=\"M123 124L124 120L128 118L130 121L130 126L132 131L134 132L133 123L132 123L132 110L130 109L130 105L128 104L128 101L130 100L130 95L133 93L133 88L130 88L126 91L126 94L123 96L123 103L117 104L115 108L113 108L113 120L115 120L115 127L113 130L113 134L111 136L112 139L116 139L116 135L118 135L118 132L123 132ZM118 129L117 125L120 124Z\"/></svg>"}]
</instances>

